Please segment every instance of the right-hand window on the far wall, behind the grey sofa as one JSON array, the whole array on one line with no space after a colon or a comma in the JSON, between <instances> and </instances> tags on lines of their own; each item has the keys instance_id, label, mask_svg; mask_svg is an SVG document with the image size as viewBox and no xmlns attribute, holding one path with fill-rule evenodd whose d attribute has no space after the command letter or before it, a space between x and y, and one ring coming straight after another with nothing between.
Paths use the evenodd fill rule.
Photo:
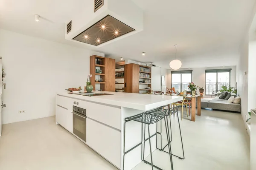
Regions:
<instances>
[{"instance_id":1,"label":"right-hand window on the far wall, behind the grey sofa","mask_svg":"<svg viewBox=\"0 0 256 170\"><path fill-rule=\"evenodd\" d=\"M205 70L205 95L221 90L221 86L230 86L231 69Z\"/></svg>"}]
</instances>

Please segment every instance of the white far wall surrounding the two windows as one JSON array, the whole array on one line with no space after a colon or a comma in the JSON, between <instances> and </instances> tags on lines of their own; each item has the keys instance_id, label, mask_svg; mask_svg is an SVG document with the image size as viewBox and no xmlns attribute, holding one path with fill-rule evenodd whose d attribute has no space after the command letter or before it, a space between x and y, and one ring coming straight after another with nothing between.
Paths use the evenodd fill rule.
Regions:
<instances>
[{"instance_id":1,"label":"white far wall surrounding the two windows","mask_svg":"<svg viewBox=\"0 0 256 170\"><path fill-rule=\"evenodd\" d=\"M179 69L178 71L192 71L192 82L194 82L199 87L205 88L205 70L210 69L228 69L231 68L231 77L230 77L230 85L236 86L236 66L225 66L223 67L207 67L207 68L190 68L189 69ZM167 70L167 87L172 87L172 74L171 69Z\"/></svg>"}]
</instances>

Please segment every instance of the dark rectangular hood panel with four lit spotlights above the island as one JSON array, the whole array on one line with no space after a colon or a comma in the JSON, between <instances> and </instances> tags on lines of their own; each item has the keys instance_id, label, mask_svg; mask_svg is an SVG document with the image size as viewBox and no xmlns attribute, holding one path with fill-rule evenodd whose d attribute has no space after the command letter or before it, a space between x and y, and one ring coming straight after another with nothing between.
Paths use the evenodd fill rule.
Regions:
<instances>
[{"instance_id":1,"label":"dark rectangular hood panel with four lit spotlights above the island","mask_svg":"<svg viewBox=\"0 0 256 170\"><path fill-rule=\"evenodd\" d=\"M134 28L107 15L102 20L99 20L96 24L74 37L73 40L97 46L131 31L134 31ZM87 36L87 38L85 38L85 35L90 35L90 37Z\"/></svg>"}]
</instances>

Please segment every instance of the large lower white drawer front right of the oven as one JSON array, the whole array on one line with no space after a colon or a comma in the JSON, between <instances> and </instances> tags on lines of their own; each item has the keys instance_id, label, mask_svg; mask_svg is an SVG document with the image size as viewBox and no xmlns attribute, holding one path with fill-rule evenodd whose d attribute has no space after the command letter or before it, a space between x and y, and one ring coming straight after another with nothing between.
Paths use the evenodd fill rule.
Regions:
<instances>
[{"instance_id":1,"label":"large lower white drawer front right of the oven","mask_svg":"<svg viewBox=\"0 0 256 170\"><path fill-rule=\"evenodd\" d=\"M89 118L86 121L86 144L121 168L121 132Z\"/></svg>"}]
</instances>

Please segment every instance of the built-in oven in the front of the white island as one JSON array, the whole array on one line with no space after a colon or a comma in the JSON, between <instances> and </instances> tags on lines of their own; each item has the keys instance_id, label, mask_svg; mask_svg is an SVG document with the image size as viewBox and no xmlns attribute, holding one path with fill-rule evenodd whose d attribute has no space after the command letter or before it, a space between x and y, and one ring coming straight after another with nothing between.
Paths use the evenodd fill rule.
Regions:
<instances>
[{"instance_id":1,"label":"built-in oven in the front of the white island","mask_svg":"<svg viewBox=\"0 0 256 170\"><path fill-rule=\"evenodd\" d=\"M86 109L73 106L73 133L86 142Z\"/></svg>"}]
</instances>

